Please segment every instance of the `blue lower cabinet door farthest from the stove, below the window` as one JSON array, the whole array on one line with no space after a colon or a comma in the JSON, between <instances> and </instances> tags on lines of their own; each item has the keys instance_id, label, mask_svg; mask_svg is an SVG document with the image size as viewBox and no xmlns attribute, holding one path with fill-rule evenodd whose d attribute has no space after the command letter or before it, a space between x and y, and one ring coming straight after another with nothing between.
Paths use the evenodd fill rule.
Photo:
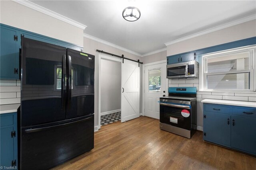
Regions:
<instances>
[{"instance_id":1,"label":"blue lower cabinet door farthest from the stove, below the window","mask_svg":"<svg viewBox=\"0 0 256 170\"><path fill-rule=\"evenodd\" d=\"M231 147L256 154L256 118L231 116Z\"/></svg>"}]
</instances>

